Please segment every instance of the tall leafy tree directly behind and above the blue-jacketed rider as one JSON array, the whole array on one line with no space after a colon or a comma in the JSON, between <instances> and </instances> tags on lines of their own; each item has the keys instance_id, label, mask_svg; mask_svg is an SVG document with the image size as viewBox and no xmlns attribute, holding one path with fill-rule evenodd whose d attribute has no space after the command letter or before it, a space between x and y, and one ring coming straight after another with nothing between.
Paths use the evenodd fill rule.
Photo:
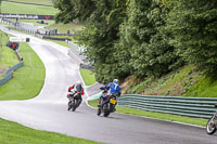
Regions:
<instances>
[{"instance_id":1,"label":"tall leafy tree directly behind and above the blue-jacketed rider","mask_svg":"<svg viewBox=\"0 0 217 144\"><path fill-rule=\"evenodd\" d=\"M119 54L114 44L118 41L119 25L125 16L125 0L95 0L95 11L87 21L79 41L87 45L86 55L92 62L98 81L118 78Z\"/></svg>"}]
</instances>

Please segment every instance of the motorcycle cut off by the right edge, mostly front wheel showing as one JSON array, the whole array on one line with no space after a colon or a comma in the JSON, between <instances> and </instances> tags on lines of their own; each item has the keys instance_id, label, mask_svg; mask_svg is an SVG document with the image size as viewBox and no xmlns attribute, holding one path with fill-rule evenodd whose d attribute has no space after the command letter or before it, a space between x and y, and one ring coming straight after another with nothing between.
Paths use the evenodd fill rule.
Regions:
<instances>
[{"instance_id":1,"label":"motorcycle cut off by the right edge, mostly front wheel showing","mask_svg":"<svg viewBox=\"0 0 217 144\"><path fill-rule=\"evenodd\" d=\"M215 105L217 107L217 104ZM217 110L216 113L209 118L206 125L206 133L214 134L217 129Z\"/></svg>"}]
</instances>

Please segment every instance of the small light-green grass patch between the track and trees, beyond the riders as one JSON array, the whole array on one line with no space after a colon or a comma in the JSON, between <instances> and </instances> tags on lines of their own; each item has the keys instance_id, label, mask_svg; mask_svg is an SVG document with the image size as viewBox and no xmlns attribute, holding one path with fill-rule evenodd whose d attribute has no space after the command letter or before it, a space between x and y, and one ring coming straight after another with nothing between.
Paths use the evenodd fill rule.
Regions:
<instances>
[{"instance_id":1,"label":"small light-green grass patch between the track and trees, beyond the riders","mask_svg":"<svg viewBox=\"0 0 217 144\"><path fill-rule=\"evenodd\" d=\"M91 86L95 83L95 77L93 71L88 69L79 69L79 70L86 86Z\"/></svg>"}]
</instances>

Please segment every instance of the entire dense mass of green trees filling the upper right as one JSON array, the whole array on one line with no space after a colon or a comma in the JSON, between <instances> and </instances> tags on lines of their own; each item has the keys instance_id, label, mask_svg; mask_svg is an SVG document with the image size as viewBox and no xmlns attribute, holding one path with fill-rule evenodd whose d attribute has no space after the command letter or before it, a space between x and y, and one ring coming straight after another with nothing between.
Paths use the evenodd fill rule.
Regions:
<instances>
[{"instance_id":1,"label":"entire dense mass of green trees filling the upper right","mask_svg":"<svg viewBox=\"0 0 217 144\"><path fill-rule=\"evenodd\" d=\"M56 19L87 24L78 40L102 83L129 76L141 83L183 67L197 78L190 86L216 80L216 0L58 0L54 6Z\"/></svg>"}]
</instances>

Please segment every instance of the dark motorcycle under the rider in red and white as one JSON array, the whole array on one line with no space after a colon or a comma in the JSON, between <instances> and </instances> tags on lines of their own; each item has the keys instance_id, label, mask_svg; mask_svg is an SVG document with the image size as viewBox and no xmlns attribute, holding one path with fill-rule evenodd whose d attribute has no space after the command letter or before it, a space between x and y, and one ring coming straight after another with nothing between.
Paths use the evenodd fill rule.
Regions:
<instances>
[{"instance_id":1,"label":"dark motorcycle under the rider in red and white","mask_svg":"<svg viewBox=\"0 0 217 144\"><path fill-rule=\"evenodd\" d=\"M68 96L69 102L68 102L68 110L75 112L75 109L80 105L81 103L81 92L76 91L73 96Z\"/></svg>"}]
</instances>

